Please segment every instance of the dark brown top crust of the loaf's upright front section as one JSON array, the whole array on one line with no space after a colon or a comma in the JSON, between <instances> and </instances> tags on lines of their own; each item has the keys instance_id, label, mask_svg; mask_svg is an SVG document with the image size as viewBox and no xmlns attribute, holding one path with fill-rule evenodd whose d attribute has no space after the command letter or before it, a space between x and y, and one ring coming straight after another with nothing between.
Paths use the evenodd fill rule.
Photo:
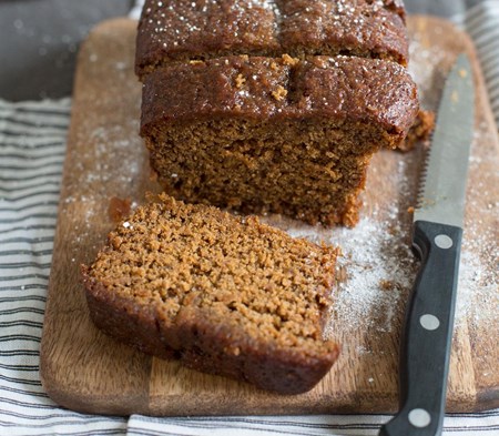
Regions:
<instances>
[{"instance_id":1,"label":"dark brown top crust of the loaf's upright front section","mask_svg":"<svg viewBox=\"0 0 499 436\"><path fill-rule=\"evenodd\" d=\"M418 109L415 82L394 62L227 57L177 63L147 74L141 134L147 135L159 122L327 119L375 123L397 142L406 136Z\"/></svg>"}]
</instances>

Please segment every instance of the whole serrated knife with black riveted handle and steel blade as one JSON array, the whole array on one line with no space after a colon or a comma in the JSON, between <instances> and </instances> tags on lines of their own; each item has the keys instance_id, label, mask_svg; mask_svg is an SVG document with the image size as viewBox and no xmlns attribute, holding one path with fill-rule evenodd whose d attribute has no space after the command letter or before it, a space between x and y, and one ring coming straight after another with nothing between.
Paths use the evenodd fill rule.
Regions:
<instances>
[{"instance_id":1,"label":"whole serrated knife with black riveted handle and steel blade","mask_svg":"<svg viewBox=\"0 0 499 436\"><path fill-rule=\"evenodd\" d=\"M413 247L421 265L401 335L399 412L380 436L441 434L473 110L471 65L460 54L444 87L414 214Z\"/></svg>"}]
</instances>

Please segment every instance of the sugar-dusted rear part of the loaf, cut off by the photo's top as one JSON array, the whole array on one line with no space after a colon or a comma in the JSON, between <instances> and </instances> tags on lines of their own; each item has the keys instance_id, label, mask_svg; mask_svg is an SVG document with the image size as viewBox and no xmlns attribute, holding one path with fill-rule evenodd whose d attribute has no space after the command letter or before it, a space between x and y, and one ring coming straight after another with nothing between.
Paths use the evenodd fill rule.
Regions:
<instances>
[{"instance_id":1,"label":"sugar-dusted rear part of the loaf, cut off by the photo's top","mask_svg":"<svg viewBox=\"0 0 499 436\"><path fill-rule=\"evenodd\" d=\"M407 64L398 0L147 0L136 73L172 61L232 54L348 54Z\"/></svg>"}]
</instances>

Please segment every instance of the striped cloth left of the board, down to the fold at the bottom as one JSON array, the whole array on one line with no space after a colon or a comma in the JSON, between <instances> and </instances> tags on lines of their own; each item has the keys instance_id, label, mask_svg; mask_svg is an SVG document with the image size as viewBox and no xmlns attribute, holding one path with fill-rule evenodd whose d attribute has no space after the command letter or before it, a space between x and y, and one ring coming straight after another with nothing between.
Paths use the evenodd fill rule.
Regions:
<instances>
[{"instance_id":1,"label":"striped cloth left of the board, down to the fold at the bottom","mask_svg":"<svg viewBox=\"0 0 499 436\"><path fill-rule=\"evenodd\" d=\"M0 434L123 434L124 418L59 408L39 348L71 100L0 100Z\"/></svg>"}]
</instances>

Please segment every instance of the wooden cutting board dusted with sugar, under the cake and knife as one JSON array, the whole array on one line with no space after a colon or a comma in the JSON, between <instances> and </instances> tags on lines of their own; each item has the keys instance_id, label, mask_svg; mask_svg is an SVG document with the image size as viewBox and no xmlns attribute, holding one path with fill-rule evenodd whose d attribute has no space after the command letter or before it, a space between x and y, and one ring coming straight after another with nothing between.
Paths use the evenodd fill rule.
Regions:
<instances>
[{"instance_id":1,"label":"wooden cutting board dusted with sugar, under the cake and knife","mask_svg":"<svg viewBox=\"0 0 499 436\"><path fill-rule=\"evenodd\" d=\"M461 267L465 277L460 284L447 409L498 407L499 323L493 310L498 307L497 128L469 38L435 18L410 17L408 23L411 70L427 108L436 107L442 81L460 51L467 51L475 64L477 123L465 230L466 265ZM350 247L349 240L359 239L358 245L363 245L363 237L369 240L364 252L353 250L344 263L342 275L346 284L336 291L337 313L330 328L343 352L330 373L312 392L281 396L200 374L121 345L93 326L79 265L92 261L114 226L110 217L115 203L112 199L130 199L133 206L143 202L145 191L159 190L139 138L141 85L133 74L135 27L135 22L126 19L102 23L79 55L41 343L41 378L48 394L62 406L98 414L394 412L399 332L416 274L408 249L407 210L415 202L422 146L406 154L381 152L374 159L364 195L363 221L356 230L301 227L299 223L279 216L266 217L283 229L294 227L295 234L327 241L337 237ZM380 230L388 237L376 239ZM368 235L366 240L363 232L370 232L373 237ZM370 284L358 281L360 284L355 285L349 274L357 271L358 275L358 256L365 256L369 250L374 254L370 261L367 256L361 278L364 283L370 278ZM383 264L384 258L389 260L388 266ZM398 267L406 266L409 280L393 282L389 274L393 272L395 276ZM379 278L375 283L379 288L373 291L368 286L373 286L373 278L383 268L388 276ZM367 286L366 293L363 286ZM383 292L390 293L386 294L388 300L377 301ZM369 295L375 298L369 301Z\"/></svg>"}]
</instances>

